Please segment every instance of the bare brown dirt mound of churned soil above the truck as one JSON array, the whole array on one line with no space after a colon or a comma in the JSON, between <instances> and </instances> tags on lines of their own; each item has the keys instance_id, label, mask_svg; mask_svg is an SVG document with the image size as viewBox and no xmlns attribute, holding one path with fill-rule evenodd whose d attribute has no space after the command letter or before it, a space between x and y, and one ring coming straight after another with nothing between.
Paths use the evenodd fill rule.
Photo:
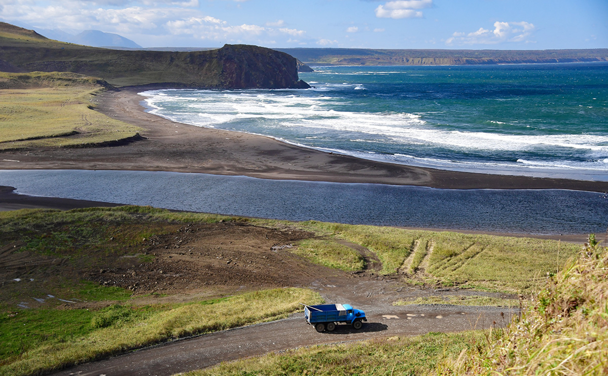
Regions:
<instances>
[{"instance_id":1,"label":"bare brown dirt mound of churned soil above the truck","mask_svg":"<svg viewBox=\"0 0 608 376\"><path fill-rule=\"evenodd\" d=\"M91 272L89 279L131 289L136 295L226 296L247 290L298 287L331 270L283 247L311 235L238 222L185 225L177 233L145 240L138 258L150 261Z\"/></svg>"}]
</instances>

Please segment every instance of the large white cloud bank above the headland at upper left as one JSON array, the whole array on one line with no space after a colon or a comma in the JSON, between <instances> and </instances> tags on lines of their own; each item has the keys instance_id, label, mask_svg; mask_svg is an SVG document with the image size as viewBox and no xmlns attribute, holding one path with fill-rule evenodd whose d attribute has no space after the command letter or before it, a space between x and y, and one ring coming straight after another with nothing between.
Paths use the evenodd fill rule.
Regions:
<instances>
[{"instance_id":1,"label":"large white cloud bank above the headland at upper left","mask_svg":"<svg viewBox=\"0 0 608 376\"><path fill-rule=\"evenodd\" d=\"M266 25L230 24L206 14L198 5L199 0L0 0L0 14L5 21L38 29L118 33L142 46L166 43L171 36L179 36L182 41L194 38L220 44L262 45L305 36L302 30L284 27L281 19Z\"/></svg>"}]
</instances>

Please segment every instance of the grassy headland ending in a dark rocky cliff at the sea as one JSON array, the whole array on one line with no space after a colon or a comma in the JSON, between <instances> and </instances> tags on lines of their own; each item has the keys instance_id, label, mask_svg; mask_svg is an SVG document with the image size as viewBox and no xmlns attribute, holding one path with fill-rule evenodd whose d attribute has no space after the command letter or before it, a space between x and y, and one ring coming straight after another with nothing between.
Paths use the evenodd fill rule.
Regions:
<instances>
[{"instance_id":1,"label":"grassy headland ending in a dark rocky cliff at the sea","mask_svg":"<svg viewBox=\"0 0 608 376\"><path fill-rule=\"evenodd\" d=\"M295 58L257 46L195 52L110 50L47 39L0 22L0 70L73 72L114 86L162 84L214 89L307 88Z\"/></svg>"}]
</instances>

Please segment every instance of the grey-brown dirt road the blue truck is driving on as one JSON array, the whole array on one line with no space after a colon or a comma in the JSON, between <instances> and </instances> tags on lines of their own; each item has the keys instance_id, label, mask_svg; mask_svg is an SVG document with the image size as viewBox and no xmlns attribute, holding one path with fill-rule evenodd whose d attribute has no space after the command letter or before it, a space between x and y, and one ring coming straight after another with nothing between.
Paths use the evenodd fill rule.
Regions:
<instances>
[{"instance_id":1,"label":"grey-brown dirt road the blue truck is driving on","mask_svg":"<svg viewBox=\"0 0 608 376\"><path fill-rule=\"evenodd\" d=\"M403 287L390 278L375 276L362 276L350 281L342 277L320 279L311 287L322 293L328 303L351 303L364 309L368 322L361 330L341 324L334 332L317 333L305 323L303 313L296 313L285 320L175 341L71 367L54 375L173 375L213 366L221 361L315 344L481 329L494 323L503 326L516 313L516 310L501 307L392 306L390 302L396 298L429 295L437 293L437 290Z\"/></svg>"}]
</instances>

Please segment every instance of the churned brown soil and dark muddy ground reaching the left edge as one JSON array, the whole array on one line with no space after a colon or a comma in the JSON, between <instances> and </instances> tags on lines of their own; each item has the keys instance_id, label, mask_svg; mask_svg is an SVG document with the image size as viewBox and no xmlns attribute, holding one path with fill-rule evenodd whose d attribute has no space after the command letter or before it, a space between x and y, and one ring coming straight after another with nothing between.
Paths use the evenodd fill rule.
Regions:
<instances>
[{"instance_id":1,"label":"churned brown soil and dark muddy ground reaching the left edge","mask_svg":"<svg viewBox=\"0 0 608 376\"><path fill-rule=\"evenodd\" d=\"M350 273L312 264L291 252L295 242L311 236L294 228L242 222L171 225L167 234L141 239L126 254L112 256L104 254L103 248L91 247L83 259L19 251L21 244L7 244L0 249L0 284L9 289L2 293L2 300L40 306L40 296L65 297L68 292L58 290L58 285L82 279L129 289L137 303L159 303L305 287L326 276L350 278Z\"/></svg>"}]
</instances>

